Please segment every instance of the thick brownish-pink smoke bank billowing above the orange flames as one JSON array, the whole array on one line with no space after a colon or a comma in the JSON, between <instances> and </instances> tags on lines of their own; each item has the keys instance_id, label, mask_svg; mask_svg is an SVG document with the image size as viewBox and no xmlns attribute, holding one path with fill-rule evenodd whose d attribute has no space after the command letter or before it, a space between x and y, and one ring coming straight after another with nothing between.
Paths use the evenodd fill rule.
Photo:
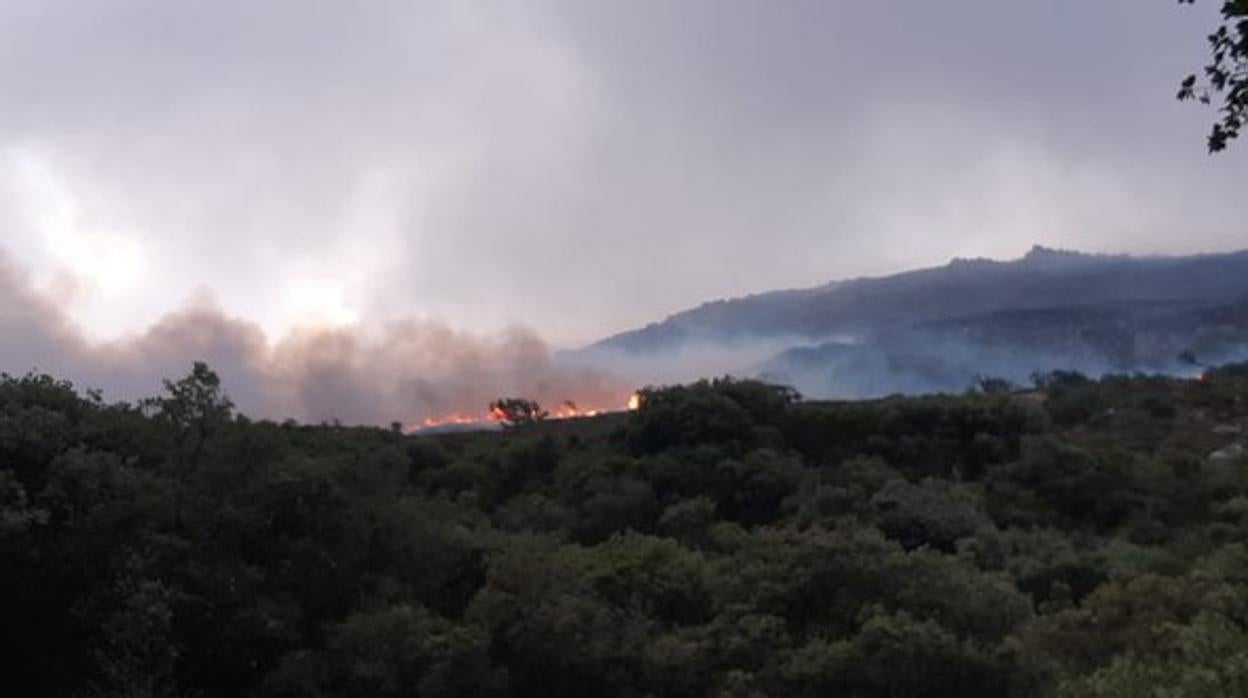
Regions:
<instances>
[{"instance_id":1,"label":"thick brownish-pink smoke bank billowing above the orange flames","mask_svg":"<svg viewBox=\"0 0 1248 698\"><path fill-rule=\"evenodd\" d=\"M161 378L181 377L193 360L221 375L245 413L313 422L482 415L504 396L620 408L630 392L602 371L558 365L524 328L482 335L408 318L378 330L305 327L273 340L200 301L132 336L96 343L4 257L0 296L0 367L69 377L112 400L156 395Z\"/></svg>"}]
</instances>

